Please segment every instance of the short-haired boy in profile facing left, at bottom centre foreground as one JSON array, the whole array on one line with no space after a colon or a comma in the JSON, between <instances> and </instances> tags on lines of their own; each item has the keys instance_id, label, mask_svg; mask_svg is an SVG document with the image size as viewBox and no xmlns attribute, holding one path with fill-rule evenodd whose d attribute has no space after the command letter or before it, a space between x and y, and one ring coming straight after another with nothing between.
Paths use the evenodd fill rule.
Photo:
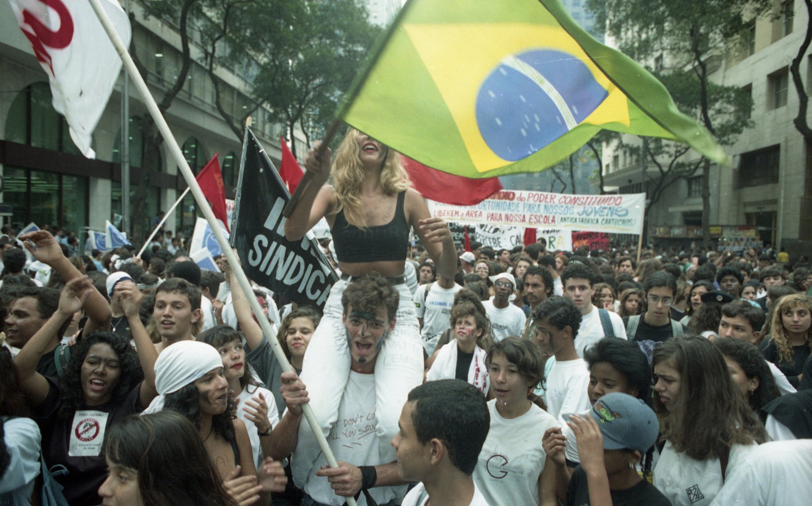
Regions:
<instances>
[{"instance_id":1,"label":"short-haired boy in profile facing left, at bottom centre foreground","mask_svg":"<svg viewBox=\"0 0 812 506\"><path fill-rule=\"evenodd\" d=\"M400 479L421 482L401 506L487 506L473 469L490 427L477 388L460 379L439 379L412 389L398 421L395 447Z\"/></svg>"}]
</instances>

